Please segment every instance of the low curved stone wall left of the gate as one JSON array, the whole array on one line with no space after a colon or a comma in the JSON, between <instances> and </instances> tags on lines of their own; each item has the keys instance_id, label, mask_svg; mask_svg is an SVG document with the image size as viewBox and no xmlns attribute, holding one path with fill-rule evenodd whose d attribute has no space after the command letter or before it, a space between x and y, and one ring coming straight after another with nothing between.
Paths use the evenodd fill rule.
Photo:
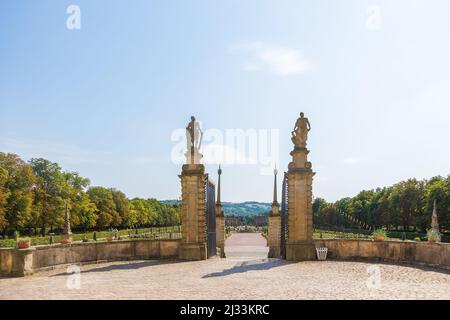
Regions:
<instances>
[{"instance_id":1,"label":"low curved stone wall left of the gate","mask_svg":"<svg viewBox=\"0 0 450 320\"><path fill-rule=\"evenodd\" d=\"M180 240L129 240L0 249L0 276L26 276L65 264L116 260L177 259Z\"/></svg>"}]
</instances>

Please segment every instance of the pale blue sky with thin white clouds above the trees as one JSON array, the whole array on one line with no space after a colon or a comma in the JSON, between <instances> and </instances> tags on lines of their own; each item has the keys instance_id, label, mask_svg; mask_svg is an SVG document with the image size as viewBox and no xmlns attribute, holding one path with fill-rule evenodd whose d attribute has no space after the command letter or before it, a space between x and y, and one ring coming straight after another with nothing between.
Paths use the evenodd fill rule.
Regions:
<instances>
[{"instance_id":1,"label":"pale blue sky with thin white clouds above the trees","mask_svg":"<svg viewBox=\"0 0 450 320\"><path fill-rule=\"evenodd\" d=\"M222 200L270 202L304 112L315 197L446 176L448 12L448 0L5 0L0 151L178 199L177 139L195 115L213 180L223 163ZM213 138L239 130L257 153ZM243 161L207 161L217 150Z\"/></svg>"}]
</instances>

